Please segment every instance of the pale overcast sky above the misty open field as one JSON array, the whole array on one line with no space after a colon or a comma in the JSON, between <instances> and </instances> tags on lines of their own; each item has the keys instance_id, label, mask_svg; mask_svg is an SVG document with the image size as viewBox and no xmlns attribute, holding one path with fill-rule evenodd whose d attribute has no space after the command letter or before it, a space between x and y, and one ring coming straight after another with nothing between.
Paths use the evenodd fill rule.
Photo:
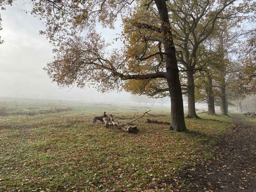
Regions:
<instances>
[{"instance_id":1,"label":"pale overcast sky above the misty open field","mask_svg":"<svg viewBox=\"0 0 256 192\"><path fill-rule=\"evenodd\" d=\"M103 99L95 89L59 89L42 70L52 60L52 46L39 30L44 24L38 18L22 10L31 10L16 1L13 6L1 11L2 27L0 31L4 44L0 45L0 97L27 97L43 99L98 100ZM112 42L114 35L120 32L103 29L103 36ZM99 30L102 30L99 28ZM116 46L119 46L118 44ZM104 94L104 98L116 101L130 99L129 93Z\"/></svg>"}]
</instances>

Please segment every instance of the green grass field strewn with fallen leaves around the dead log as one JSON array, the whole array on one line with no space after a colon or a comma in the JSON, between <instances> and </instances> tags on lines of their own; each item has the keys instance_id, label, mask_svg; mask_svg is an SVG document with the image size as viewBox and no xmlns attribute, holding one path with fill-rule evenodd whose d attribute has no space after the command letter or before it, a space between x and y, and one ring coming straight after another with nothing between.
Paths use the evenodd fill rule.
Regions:
<instances>
[{"instance_id":1,"label":"green grass field strewn with fallen leaves around the dead log","mask_svg":"<svg viewBox=\"0 0 256 192\"><path fill-rule=\"evenodd\" d=\"M232 127L231 117L186 119L187 133L147 118L169 121L167 108L152 108L127 133L93 124L104 111L126 118L150 110L0 98L0 191L172 191L184 186L179 168L211 158L211 149ZM59 112L59 113L58 113Z\"/></svg>"}]
</instances>

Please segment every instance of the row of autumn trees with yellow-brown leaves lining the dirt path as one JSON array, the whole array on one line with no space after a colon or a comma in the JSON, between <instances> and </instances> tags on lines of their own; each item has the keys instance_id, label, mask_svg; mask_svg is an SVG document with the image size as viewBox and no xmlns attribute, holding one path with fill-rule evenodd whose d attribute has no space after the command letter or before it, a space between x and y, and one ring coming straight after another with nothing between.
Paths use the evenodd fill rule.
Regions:
<instances>
[{"instance_id":1,"label":"row of autumn trees with yellow-brown leaves lining the dirt path","mask_svg":"<svg viewBox=\"0 0 256 192\"><path fill-rule=\"evenodd\" d=\"M41 33L55 46L55 57L44 69L59 86L92 85L102 92L125 89L170 97L170 129L175 131L186 130L183 94L187 117L198 118L196 101L207 100L209 114L214 114L218 95L222 114L227 115L227 89L236 90L234 94L255 91L255 57L234 57L241 35L234 31L255 19L251 0L30 2L31 13L45 21ZM2 7L6 3L12 0L0 1ZM111 44L96 26L114 28L117 18L123 31L116 40L123 46L108 50ZM251 39L254 32L248 33ZM250 51L255 55L254 48ZM248 70L252 67L254 71Z\"/></svg>"}]
</instances>

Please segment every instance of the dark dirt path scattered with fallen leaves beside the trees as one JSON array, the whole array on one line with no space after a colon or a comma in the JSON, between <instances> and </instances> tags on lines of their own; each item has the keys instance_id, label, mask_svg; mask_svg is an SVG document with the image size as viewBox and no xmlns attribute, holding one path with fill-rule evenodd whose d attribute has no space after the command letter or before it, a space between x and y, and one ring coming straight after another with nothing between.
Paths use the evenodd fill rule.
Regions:
<instances>
[{"instance_id":1,"label":"dark dirt path scattered with fallen leaves beside the trees","mask_svg":"<svg viewBox=\"0 0 256 192\"><path fill-rule=\"evenodd\" d=\"M194 186L191 191L256 192L256 125L232 117L235 127L218 143L214 158L182 172L186 186Z\"/></svg>"}]
</instances>

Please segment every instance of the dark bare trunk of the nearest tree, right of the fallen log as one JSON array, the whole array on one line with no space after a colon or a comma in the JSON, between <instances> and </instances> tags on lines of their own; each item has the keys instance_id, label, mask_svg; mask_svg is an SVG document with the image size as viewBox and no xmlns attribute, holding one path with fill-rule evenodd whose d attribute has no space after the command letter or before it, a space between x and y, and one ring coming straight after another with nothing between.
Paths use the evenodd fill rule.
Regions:
<instances>
[{"instance_id":1,"label":"dark bare trunk of the nearest tree, right of the fallen log","mask_svg":"<svg viewBox=\"0 0 256 192\"><path fill-rule=\"evenodd\" d=\"M172 40L171 27L169 22L166 0L155 0L163 30L163 47L168 55L166 60L166 79L169 86L171 100L171 124L170 130L183 132L186 130L181 83L176 59L176 50Z\"/></svg>"}]
</instances>

